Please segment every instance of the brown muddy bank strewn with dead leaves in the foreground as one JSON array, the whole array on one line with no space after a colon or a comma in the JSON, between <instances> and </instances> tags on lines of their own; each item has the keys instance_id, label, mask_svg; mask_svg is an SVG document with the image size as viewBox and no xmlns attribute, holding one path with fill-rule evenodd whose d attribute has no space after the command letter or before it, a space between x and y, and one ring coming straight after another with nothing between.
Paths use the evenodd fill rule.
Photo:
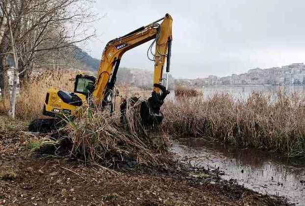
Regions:
<instances>
[{"instance_id":1,"label":"brown muddy bank strewn with dead leaves in the foreground","mask_svg":"<svg viewBox=\"0 0 305 206\"><path fill-rule=\"evenodd\" d=\"M0 117L1 118L1 117ZM22 121L0 125L0 205L7 206L285 206L221 179L221 171L186 164L108 170L30 150ZM128 169L127 169L128 168Z\"/></svg>"}]
</instances>

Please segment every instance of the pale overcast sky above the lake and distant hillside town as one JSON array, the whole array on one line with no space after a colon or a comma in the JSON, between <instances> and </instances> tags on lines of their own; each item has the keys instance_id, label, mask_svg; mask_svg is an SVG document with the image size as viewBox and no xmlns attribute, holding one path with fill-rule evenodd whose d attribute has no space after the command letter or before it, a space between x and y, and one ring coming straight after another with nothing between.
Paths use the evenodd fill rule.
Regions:
<instances>
[{"instance_id":1,"label":"pale overcast sky above the lake and distant hillside town","mask_svg":"<svg viewBox=\"0 0 305 206\"><path fill-rule=\"evenodd\" d=\"M171 73L177 78L240 74L305 62L305 0L97 0L100 59L105 44L169 13L173 22ZM153 70L149 43L124 54L121 66Z\"/></svg>"}]
</instances>

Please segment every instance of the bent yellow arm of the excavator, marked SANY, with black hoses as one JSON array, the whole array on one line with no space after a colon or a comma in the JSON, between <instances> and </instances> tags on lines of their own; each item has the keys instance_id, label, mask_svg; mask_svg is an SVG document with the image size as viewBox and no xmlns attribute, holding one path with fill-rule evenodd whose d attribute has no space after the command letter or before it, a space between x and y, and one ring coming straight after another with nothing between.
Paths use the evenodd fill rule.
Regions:
<instances>
[{"instance_id":1,"label":"bent yellow arm of the excavator, marked SANY, with black hoses","mask_svg":"<svg viewBox=\"0 0 305 206\"><path fill-rule=\"evenodd\" d=\"M158 22L162 21L161 24ZM97 104L102 106L107 104L107 98L113 92L116 75L119 69L120 61L125 52L153 39L148 50L152 53L152 46L155 44L155 51L152 53L154 62L153 91L149 104L152 110L159 112L164 98L169 94L167 90L168 75L166 78L166 87L161 84L162 74L167 58L167 74L170 66L171 42L172 42L172 22L169 14L164 18L153 22L147 26L142 26L122 37L111 40L107 43L99 66L97 80L93 90L93 96ZM162 93L160 94L160 91Z\"/></svg>"}]
</instances>

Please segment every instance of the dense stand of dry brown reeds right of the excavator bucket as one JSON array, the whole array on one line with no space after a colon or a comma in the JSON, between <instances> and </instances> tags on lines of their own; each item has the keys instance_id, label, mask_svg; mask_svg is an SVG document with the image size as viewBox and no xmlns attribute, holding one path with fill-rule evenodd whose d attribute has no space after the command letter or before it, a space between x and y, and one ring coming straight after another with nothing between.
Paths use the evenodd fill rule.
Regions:
<instances>
[{"instance_id":1,"label":"dense stand of dry brown reeds right of the excavator bucket","mask_svg":"<svg viewBox=\"0 0 305 206\"><path fill-rule=\"evenodd\" d=\"M168 101L163 113L168 133L305 155L305 98L296 94L179 98Z\"/></svg>"}]
</instances>

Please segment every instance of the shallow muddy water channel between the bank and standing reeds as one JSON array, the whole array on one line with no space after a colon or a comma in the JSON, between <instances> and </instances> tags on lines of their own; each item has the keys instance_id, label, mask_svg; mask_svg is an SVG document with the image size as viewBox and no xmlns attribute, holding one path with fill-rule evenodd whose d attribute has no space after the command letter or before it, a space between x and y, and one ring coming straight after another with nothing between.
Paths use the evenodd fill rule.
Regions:
<instances>
[{"instance_id":1,"label":"shallow muddy water channel between the bank and standing reeds","mask_svg":"<svg viewBox=\"0 0 305 206\"><path fill-rule=\"evenodd\" d=\"M185 138L173 143L179 159L225 172L222 178L262 194L284 196L305 206L305 158Z\"/></svg>"}]
</instances>

